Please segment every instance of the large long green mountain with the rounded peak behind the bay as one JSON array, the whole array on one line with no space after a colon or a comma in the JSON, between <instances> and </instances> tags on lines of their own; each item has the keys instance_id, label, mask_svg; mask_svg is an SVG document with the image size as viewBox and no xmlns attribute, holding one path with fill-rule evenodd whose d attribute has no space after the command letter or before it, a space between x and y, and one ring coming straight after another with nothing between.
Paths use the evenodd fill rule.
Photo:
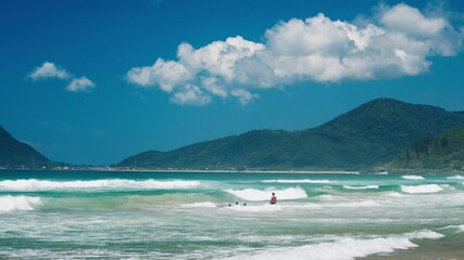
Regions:
<instances>
[{"instance_id":1,"label":"large long green mountain with the rounded peak behind the bay","mask_svg":"<svg viewBox=\"0 0 464 260\"><path fill-rule=\"evenodd\" d=\"M253 130L171 152L150 151L120 167L190 169L362 169L392 160L414 141L464 126L464 114L378 99L319 127Z\"/></svg>"}]
</instances>

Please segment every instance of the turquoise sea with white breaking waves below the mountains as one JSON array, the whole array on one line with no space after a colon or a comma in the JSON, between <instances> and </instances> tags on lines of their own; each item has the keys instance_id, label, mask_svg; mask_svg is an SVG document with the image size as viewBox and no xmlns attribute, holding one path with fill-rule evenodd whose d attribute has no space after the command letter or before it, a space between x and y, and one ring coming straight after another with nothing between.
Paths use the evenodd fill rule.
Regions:
<instances>
[{"instance_id":1,"label":"turquoise sea with white breaking waves below the mountains","mask_svg":"<svg viewBox=\"0 0 464 260\"><path fill-rule=\"evenodd\" d=\"M464 259L464 177L0 171L0 259Z\"/></svg>"}]
</instances>

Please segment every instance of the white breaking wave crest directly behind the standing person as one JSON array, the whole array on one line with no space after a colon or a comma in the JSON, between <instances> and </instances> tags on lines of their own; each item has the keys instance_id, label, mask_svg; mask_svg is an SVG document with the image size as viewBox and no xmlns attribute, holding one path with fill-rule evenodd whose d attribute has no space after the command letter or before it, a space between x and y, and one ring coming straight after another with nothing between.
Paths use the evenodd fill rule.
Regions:
<instances>
[{"instance_id":1,"label":"white breaking wave crest directly behind the standing person","mask_svg":"<svg viewBox=\"0 0 464 260\"><path fill-rule=\"evenodd\" d=\"M269 191L260 191L255 188L246 188L246 190L225 190L226 193L229 193L238 198L249 200L249 202L264 202L271 199L271 194L275 193L277 200L285 199L298 199L306 198L306 192L301 187L289 187L285 190L269 190Z\"/></svg>"}]
</instances>

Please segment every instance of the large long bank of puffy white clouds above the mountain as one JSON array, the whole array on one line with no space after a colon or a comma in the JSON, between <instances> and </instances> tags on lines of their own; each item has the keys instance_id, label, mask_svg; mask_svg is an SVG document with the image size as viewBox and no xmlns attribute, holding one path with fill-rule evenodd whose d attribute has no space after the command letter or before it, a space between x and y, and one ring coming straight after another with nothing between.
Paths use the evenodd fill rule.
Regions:
<instances>
[{"instance_id":1,"label":"large long bank of puffy white clouds above the mountain","mask_svg":"<svg viewBox=\"0 0 464 260\"><path fill-rule=\"evenodd\" d=\"M258 89L298 81L338 82L416 76L432 56L462 50L464 30L446 12L405 3L379 5L371 16L346 22L317 14L279 22L263 42L240 36L195 49L180 43L177 58L131 68L127 81L159 88L177 104L205 105L214 98L248 104Z\"/></svg>"}]
</instances>

